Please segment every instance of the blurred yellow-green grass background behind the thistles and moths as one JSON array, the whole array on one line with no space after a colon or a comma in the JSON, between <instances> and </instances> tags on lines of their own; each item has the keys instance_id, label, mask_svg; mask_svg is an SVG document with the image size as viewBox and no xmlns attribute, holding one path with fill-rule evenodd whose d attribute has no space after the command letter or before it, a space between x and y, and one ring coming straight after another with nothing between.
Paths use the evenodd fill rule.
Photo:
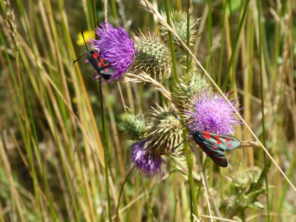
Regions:
<instances>
[{"instance_id":1,"label":"blurred yellow-green grass background behind the thistles and moths","mask_svg":"<svg viewBox=\"0 0 296 222\"><path fill-rule=\"evenodd\" d=\"M164 11L163 1L152 2ZM98 22L107 13L110 23L118 20L127 31L145 26L158 30L157 19L137 1L95 4ZM257 1L195 0L192 4L193 16L201 17L199 33L203 32L192 51L204 62L213 49L208 72L220 87L224 83L223 89L240 97L243 118L258 137L262 136L262 86L266 147L296 184L295 3L262 1L260 47ZM0 5L0 220L106 221L99 87L90 79L89 64L80 61L72 67L85 50L77 44L77 36L98 25L92 1L16 0L8 6L0 0ZM171 9L186 11L186 7L187 1L170 1ZM261 62L258 49L262 49ZM157 99L152 87L131 83L105 85L103 98L114 218L120 187L132 168L132 141L121 136L116 122L124 104L147 112ZM251 138L243 125L236 136ZM227 156L231 164L226 169L209 166L209 184L217 202L234 193L230 178L240 164L246 169L264 167L261 149L244 148ZM173 164L167 159L167 169L156 179L132 172L120 201L119 221L190 220L189 185L182 173L170 173ZM296 194L274 165L268 184L269 221L296 221ZM265 197L259 199L266 208ZM209 221L204 217L209 213L203 192L198 211L202 221ZM266 210L248 209L245 221L268 221L266 214Z\"/></svg>"}]
</instances>

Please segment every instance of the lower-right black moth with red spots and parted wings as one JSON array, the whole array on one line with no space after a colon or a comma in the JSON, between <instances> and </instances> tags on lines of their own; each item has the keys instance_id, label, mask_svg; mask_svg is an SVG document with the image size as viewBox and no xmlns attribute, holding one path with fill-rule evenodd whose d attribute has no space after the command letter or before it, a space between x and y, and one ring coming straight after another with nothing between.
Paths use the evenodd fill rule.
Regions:
<instances>
[{"instance_id":1,"label":"lower-right black moth with red spots and parted wings","mask_svg":"<svg viewBox=\"0 0 296 222\"><path fill-rule=\"evenodd\" d=\"M239 147L240 146L239 139L232 136L208 132L206 131L206 129L205 131L190 130L179 117L177 117L176 115L175 117L189 130L189 135L186 137L186 139L191 135L193 140L197 143L197 145L216 164L222 167L227 167L228 162L224 154L224 151L233 150ZM180 146L184 141L182 141L178 146Z\"/></svg>"}]
</instances>

